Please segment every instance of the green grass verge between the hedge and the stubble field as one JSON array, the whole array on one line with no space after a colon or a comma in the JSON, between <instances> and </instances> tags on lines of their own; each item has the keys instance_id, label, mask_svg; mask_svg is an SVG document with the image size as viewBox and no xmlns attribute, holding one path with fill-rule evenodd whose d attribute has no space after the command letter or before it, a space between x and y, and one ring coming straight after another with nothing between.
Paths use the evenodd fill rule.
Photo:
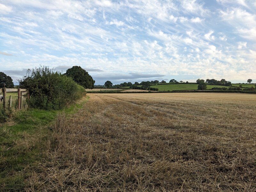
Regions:
<instances>
[{"instance_id":1,"label":"green grass verge between the hedge and the stubble field","mask_svg":"<svg viewBox=\"0 0 256 192\"><path fill-rule=\"evenodd\" d=\"M22 170L42 158L51 124L58 114L71 116L84 106L86 101L63 110L21 110L9 122L0 127L0 191L24 190L28 175Z\"/></svg>"}]
</instances>

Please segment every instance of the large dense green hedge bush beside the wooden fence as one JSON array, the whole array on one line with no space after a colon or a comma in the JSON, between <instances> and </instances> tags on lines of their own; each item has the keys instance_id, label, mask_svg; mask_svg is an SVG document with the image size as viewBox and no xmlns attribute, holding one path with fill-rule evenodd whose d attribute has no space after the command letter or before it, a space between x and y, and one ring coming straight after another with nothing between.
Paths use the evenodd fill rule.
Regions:
<instances>
[{"instance_id":1,"label":"large dense green hedge bush beside the wooden fence","mask_svg":"<svg viewBox=\"0 0 256 192\"><path fill-rule=\"evenodd\" d=\"M61 109L85 95L85 89L70 77L41 66L28 69L27 76L19 80L21 88L30 92L28 105L32 108Z\"/></svg>"}]
</instances>

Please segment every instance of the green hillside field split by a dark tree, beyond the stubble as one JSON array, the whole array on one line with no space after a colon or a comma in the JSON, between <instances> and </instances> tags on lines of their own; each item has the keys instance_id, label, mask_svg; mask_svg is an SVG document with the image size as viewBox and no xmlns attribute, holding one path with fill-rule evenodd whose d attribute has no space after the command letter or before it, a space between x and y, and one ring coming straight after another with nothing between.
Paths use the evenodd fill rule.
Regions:
<instances>
[{"instance_id":1,"label":"green hillside field split by a dark tree, beyond the stubble","mask_svg":"<svg viewBox=\"0 0 256 192\"><path fill-rule=\"evenodd\" d=\"M150 87L158 88L158 91L176 91L176 90L197 90L198 84L162 84L162 85L152 85ZM222 85L207 85L207 89L212 89L213 87L227 87ZM228 88L228 87L227 87Z\"/></svg>"}]
</instances>

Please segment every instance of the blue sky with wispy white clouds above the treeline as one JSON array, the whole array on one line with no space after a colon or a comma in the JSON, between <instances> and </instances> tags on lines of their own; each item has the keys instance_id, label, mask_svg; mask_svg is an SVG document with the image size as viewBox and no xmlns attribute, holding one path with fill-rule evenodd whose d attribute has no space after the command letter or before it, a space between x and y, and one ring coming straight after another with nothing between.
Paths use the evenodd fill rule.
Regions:
<instances>
[{"instance_id":1,"label":"blue sky with wispy white clouds above the treeline","mask_svg":"<svg viewBox=\"0 0 256 192\"><path fill-rule=\"evenodd\" d=\"M256 82L256 0L0 0L0 71L81 66L95 84Z\"/></svg>"}]
</instances>

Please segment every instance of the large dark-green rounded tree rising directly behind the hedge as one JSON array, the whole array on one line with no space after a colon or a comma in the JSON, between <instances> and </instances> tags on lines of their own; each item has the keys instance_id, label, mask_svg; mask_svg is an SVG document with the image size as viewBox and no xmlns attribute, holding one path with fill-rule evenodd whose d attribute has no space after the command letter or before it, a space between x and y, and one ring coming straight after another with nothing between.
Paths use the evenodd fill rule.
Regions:
<instances>
[{"instance_id":1,"label":"large dark-green rounded tree rising directly behind the hedge","mask_svg":"<svg viewBox=\"0 0 256 192\"><path fill-rule=\"evenodd\" d=\"M92 79L92 76L80 66L69 68L64 75L71 77L77 84L83 86L85 89L93 89L94 87L95 81Z\"/></svg>"}]
</instances>

